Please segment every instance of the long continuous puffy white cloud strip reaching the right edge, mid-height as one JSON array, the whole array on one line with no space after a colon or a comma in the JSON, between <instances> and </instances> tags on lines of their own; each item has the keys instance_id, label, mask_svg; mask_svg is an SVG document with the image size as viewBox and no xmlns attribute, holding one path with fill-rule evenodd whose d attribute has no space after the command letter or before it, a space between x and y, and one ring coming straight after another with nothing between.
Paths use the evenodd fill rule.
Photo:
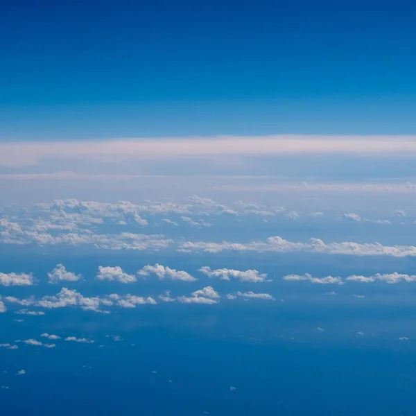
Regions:
<instances>
[{"instance_id":1,"label":"long continuous puffy white cloud strip reaching the right edge, mid-height","mask_svg":"<svg viewBox=\"0 0 416 416\"><path fill-rule=\"evenodd\" d=\"M280 236L268 237L266 241L251 241L249 243L211 243L205 241L188 241L180 245L180 252L211 252L225 250L237 252L310 252L320 254L343 254L355 256L391 256L415 257L416 247L413 245L382 245L381 243L324 243L320 239L310 239L309 243L297 243L282 239Z\"/></svg>"}]
</instances>

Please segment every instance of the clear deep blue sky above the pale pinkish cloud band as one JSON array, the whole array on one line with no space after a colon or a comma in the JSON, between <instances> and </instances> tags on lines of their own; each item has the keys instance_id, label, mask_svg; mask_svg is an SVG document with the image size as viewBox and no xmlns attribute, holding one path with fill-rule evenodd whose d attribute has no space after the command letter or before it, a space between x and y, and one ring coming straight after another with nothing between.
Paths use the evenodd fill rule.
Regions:
<instances>
[{"instance_id":1,"label":"clear deep blue sky above the pale pinkish cloud band","mask_svg":"<svg viewBox=\"0 0 416 416\"><path fill-rule=\"evenodd\" d=\"M413 1L6 1L1 139L414 133Z\"/></svg>"}]
</instances>

